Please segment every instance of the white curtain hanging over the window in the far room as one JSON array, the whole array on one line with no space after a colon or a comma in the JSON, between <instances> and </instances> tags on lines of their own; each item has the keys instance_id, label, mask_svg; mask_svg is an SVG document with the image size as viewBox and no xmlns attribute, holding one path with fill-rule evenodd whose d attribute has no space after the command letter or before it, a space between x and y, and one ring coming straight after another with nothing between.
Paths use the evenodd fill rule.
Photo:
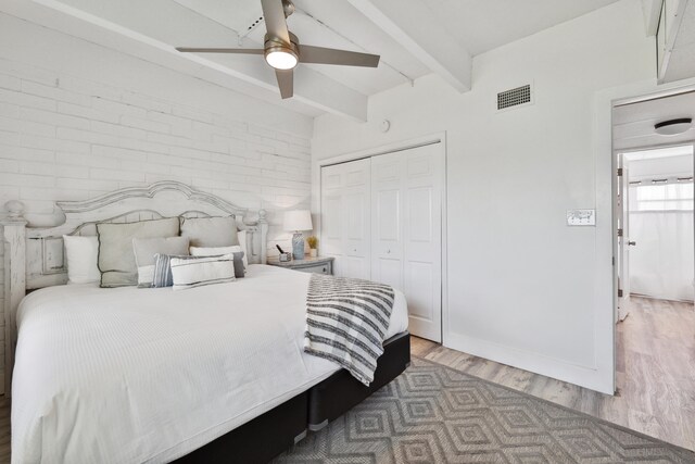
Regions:
<instances>
[{"instance_id":1,"label":"white curtain hanging over the window in the far room","mask_svg":"<svg viewBox=\"0 0 695 464\"><path fill-rule=\"evenodd\" d=\"M630 190L631 293L693 301L693 184Z\"/></svg>"}]
</instances>

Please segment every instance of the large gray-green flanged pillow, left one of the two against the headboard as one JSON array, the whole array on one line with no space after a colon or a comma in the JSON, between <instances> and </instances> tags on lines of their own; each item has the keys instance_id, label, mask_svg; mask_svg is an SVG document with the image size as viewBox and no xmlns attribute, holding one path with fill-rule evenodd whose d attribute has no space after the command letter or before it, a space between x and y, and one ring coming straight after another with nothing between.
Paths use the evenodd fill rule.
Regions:
<instances>
[{"instance_id":1,"label":"large gray-green flanged pillow, left one of the two against the headboard","mask_svg":"<svg viewBox=\"0 0 695 464\"><path fill-rule=\"evenodd\" d=\"M132 239L176 237L179 220L168 217L129 224L97 224L97 233L101 287L127 287L138 284Z\"/></svg>"}]
</instances>

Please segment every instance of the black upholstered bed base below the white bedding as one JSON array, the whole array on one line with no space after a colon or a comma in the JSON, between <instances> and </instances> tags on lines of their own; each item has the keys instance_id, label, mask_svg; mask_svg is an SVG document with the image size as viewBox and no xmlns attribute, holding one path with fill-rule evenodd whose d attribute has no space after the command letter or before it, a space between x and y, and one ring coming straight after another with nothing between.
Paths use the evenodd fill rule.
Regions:
<instances>
[{"instance_id":1,"label":"black upholstered bed base below the white bedding","mask_svg":"<svg viewBox=\"0 0 695 464\"><path fill-rule=\"evenodd\" d=\"M365 387L341 369L265 414L211 441L176 463L267 463L396 378L410 363L407 331L383 343L374 381Z\"/></svg>"}]
</instances>

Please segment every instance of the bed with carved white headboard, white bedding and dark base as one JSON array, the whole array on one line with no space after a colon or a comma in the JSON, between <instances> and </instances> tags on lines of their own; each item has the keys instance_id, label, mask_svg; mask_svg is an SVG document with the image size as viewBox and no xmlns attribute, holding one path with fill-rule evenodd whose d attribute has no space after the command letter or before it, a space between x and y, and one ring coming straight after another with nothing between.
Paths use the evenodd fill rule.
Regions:
<instances>
[{"instance_id":1,"label":"bed with carved white headboard, white bedding and dark base","mask_svg":"<svg viewBox=\"0 0 695 464\"><path fill-rule=\"evenodd\" d=\"M400 292L369 387L303 352L309 275L261 264L264 212L250 221L247 210L178 183L59 206L61 226L25 228L16 208L3 224L13 259L5 289L17 304L5 317L10 310L18 327L10 334L13 462L265 462L409 362ZM181 214L235 214L249 231L247 276L185 291L62 285L62 234L92 234L104 218ZM36 290L18 303L26 289Z\"/></svg>"}]
</instances>

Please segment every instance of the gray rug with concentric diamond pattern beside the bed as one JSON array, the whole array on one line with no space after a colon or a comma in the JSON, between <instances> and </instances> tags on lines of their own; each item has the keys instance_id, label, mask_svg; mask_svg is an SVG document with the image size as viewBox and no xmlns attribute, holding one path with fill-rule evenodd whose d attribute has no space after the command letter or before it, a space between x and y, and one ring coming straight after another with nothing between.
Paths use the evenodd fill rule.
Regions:
<instances>
[{"instance_id":1,"label":"gray rug with concentric diamond pattern beside the bed","mask_svg":"<svg viewBox=\"0 0 695 464\"><path fill-rule=\"evenodd\" d=\"M277 463L695 463L633 430L419 358Z\"/></svg>"}]
</instances>

